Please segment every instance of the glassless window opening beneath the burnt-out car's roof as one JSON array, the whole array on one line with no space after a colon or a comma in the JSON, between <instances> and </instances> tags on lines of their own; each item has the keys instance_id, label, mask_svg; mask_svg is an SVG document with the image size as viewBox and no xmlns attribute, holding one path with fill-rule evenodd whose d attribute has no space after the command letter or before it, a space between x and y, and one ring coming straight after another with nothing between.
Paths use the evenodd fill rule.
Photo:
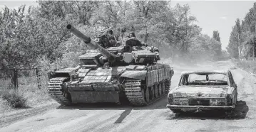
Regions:
<instances>
[{"instance_id":1,"label":"glassless window opening beneath the burnt-out car's roof","mask_svg":"<svg viewBox=\"0 0 256 132\"><path fill-rule=\"evenodd\" d=\"M181 77L180 85L227 85L227 75L221 73L187 74Z\"/></svg>"}]
</instances>

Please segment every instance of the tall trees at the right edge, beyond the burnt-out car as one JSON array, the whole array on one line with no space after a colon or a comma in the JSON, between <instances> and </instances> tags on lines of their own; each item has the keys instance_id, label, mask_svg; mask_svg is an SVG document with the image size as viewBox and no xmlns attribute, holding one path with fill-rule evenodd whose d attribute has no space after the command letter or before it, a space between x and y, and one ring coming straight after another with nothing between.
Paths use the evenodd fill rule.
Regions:
<instances>
[{"instance_id":1,"label":"tall trees at the right edge, beyond the burnt-out car","mask_svg":"<svg viewBox=\"0 0 256 132\"><path fill-rule=\"evenodd\" d=\"M252 8L245 14L241 21L239 18L235 21L230 33L230 41L227 45L227 51L237 59L254 59L256 57L256 2Z\"/></svg>"}]
</instances>

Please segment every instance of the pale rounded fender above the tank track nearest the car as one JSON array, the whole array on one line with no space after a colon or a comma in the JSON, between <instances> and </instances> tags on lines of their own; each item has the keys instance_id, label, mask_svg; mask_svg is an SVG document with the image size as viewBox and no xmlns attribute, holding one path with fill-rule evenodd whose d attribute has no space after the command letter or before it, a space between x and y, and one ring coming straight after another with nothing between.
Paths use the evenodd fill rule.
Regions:
<instances>
[{"instance_id":1,"label":"pale rounded fender above the tank track nearest the car","mask_svg":"<svg viewBox=\"0 0 256 132\"><path fill-rule=\"evenodd\" d=\"M141 71L134 70L134 71L123 72L121 77L145 80L146 74L147 74L147 71L145 71L145 70L141 70Z\"/></svg>"}]
</instances>

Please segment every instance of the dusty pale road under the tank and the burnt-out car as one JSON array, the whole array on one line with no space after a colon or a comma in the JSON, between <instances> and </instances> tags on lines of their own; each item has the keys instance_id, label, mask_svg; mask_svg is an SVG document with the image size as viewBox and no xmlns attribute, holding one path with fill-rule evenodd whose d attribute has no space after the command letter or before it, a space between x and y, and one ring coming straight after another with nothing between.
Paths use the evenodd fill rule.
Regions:
<instances>
[{"instance_id":1,"label":"dusty pale road under the tank and the burnt-out car","mask_svg":"<svg viewBox=\"0 0 256 132\"><path fill-rule=\"evenodd\" d=\"M230 61L174 67L173 89L182 70L225 70ZM173 114L167 99L146 107L93 104L63 106L0 128L0 131L256 131L256 78L239 68L231 70L238 87L232 114Z\"/></svg>"}]
</instances>

